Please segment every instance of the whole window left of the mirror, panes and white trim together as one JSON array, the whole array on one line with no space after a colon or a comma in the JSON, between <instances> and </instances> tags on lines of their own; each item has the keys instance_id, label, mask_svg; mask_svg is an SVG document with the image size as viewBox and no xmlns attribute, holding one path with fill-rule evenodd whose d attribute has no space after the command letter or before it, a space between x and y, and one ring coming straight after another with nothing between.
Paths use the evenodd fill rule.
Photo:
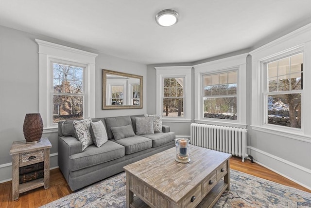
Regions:
<instances>
[{"instance_id":1,"label":"whole window left of the mirror, panes and white trim together","mask_svg":"<svg viewBox=\"0 0 311 208\"><path fill-rule=\"evenodd\" d=\"M97 54L35 39L39 46L39 113L44 133L57 122L95 117Z\"/></svg>"}]
</instances>

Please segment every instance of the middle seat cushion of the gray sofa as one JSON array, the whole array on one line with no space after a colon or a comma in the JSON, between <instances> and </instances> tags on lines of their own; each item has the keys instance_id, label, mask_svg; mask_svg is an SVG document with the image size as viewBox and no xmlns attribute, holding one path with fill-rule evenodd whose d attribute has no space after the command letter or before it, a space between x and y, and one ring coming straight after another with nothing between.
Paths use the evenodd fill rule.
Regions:
<instances>
[{"instance_id":1,"label":"middle seat cushion of the gray sofa","mask_svg":"<svg viewBox=\"0 0 311 208\"><path fill-rule=\"evenodd\" d=\"M152 147L151 139L142 136L132 136L113 141L125 147L125 154L132 154Z\"/></svg>"}]
</instances>

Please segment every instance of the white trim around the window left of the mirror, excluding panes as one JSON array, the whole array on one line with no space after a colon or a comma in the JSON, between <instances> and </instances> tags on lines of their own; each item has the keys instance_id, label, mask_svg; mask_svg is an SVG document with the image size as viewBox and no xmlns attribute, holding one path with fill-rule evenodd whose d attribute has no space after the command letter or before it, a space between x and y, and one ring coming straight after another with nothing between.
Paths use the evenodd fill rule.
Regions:
<instances>
[{"instance_id":1,"label":"white trim around the window left of the mirror, excluding panes","mask_svg":"<svg viewBox=\"0 0 311 208\"><path fill-rule=\"evenodd\" d=\"M84 109L84 115L85 117L95 117L95 57L98 55L39 39L35 39L35 41L39 46L39 113L42 117L45 132L57 128L57 124L51 124L52 59L86 65L86 86L84 86L86 90L86 109Z\"/></svg>"}]
</instances>

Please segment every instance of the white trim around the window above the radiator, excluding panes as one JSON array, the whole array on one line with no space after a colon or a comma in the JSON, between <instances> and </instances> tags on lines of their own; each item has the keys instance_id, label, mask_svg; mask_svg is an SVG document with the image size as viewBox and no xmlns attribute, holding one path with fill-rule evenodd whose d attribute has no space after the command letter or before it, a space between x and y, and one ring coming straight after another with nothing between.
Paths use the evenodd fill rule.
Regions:
<instances>
[{"instance_id":1,"label":"white trim around the window above the radiator, excluding panes","mask_svg":"<svg viewBox=\"0 0 311 208\"><path fill-rule=\"evenodd\" d=\"M234 57L223 58L194 67L194 92L195 93L195 122L222 126L246 127L246 57L242 54ZM237 120L203 118L203 79L205 74L238 71L237 89Z\"/></svg>"}]
</instances>

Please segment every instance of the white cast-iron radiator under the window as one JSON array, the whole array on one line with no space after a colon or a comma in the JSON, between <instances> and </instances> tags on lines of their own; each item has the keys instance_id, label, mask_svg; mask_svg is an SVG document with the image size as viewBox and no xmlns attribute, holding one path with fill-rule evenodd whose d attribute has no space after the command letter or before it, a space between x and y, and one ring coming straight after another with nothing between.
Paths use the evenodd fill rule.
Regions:
<instances>
[{"instance_id":1,"label":"white cast-iron radiator under the window","mask_svg":"<svg viewBox=\"0 0 311 208\"><path fill-rule=\"evenodd\" d=\"M192 123L190 144L211 150L230 153L234 156L248 157L246 153L246 134L243 128Z\"/></svg>"}]
</instances>

